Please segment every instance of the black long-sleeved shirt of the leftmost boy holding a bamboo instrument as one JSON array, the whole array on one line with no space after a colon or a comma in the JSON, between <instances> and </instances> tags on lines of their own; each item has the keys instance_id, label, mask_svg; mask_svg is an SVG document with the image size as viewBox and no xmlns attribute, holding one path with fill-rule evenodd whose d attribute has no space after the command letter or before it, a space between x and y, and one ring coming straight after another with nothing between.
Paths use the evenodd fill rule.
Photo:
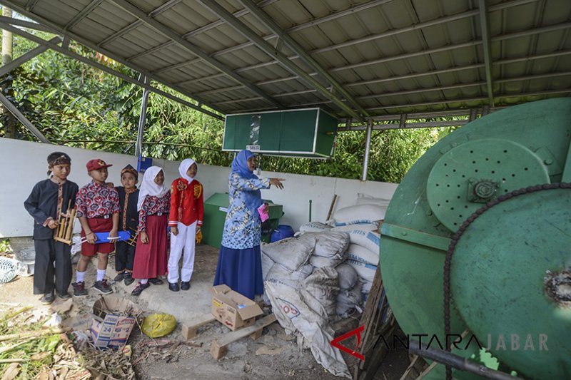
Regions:
<instances>
[{"instance_id":1,"label":"black long-sleeved shirt of the leftmost boy holding a bamboo instrument","mask_svg":"<svg viewBox=\"0 0 571 380\"><path fill-rule=\"evenodd\" d=\"M34 239L49 240L54 238L54 230L47 227L47 222L51 217L59 220L58 215L58 195L61 193L60 207L61 213L65 214L70 204L75 207L76 195L79 187L76 183L66 180L59 185L52 180L43 180L34 185L31 193L24 201L24 207L34 218Z\"/></svg>"}]
</instances>

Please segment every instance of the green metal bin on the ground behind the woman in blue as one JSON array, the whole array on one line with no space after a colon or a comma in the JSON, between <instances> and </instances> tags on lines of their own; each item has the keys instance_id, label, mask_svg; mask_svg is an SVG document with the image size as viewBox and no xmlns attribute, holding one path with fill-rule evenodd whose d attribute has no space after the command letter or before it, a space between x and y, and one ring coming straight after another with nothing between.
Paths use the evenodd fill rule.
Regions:
<instances>
[{"instance_id":1,"label":"green metal bin on the ground behind the woman in blue","mask_svg":"<svg viewBox=\"0 0 571 380\"><path fill-rule=\"evenodd\" d=\"M272 232L278 227L280 218L283 215L283 207L282 205L274 204L271 200L263 201L269 204L268 214L270 218L263 223L262 240L270 242ZM204 201L203 244L220 248L228 205L230 205L228 194L223 192L216 192Z\"/></svg>"}]
</instances>

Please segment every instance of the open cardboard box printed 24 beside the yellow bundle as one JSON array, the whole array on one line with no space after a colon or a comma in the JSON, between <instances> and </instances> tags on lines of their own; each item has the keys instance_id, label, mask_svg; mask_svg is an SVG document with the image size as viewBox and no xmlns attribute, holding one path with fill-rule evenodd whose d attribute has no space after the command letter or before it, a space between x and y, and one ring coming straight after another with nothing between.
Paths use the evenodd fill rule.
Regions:
<instances>
[{"instance_id":1,"label":"open cardboard box printed 24 beside the yellow bundle","mask_svg":"<svg viewBox=\"0 0 571 380\"><path fill-rule=\"evenodd\" d=\"M99 349L120 349L135 326L141 310L133 302L115 296L103 296L94 304L91 338Z\"/></svg>"}]
</instances>

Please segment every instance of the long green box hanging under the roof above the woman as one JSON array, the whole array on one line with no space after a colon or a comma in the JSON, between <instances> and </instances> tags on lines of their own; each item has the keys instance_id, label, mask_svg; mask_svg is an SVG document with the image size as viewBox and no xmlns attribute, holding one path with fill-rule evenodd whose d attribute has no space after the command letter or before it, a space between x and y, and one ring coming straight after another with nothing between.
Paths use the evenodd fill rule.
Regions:
<instances>
[{"instance_id":1,"label":"long green box hanging under the roof above the woman","mask_svg":"<svg viewBox=\"0 0 571 380\"><path fill-rule=\"evenodd\" d=\"M329 158L337 123L320 108L226 115L222 150Z\"/></svg>"}]
</instances>

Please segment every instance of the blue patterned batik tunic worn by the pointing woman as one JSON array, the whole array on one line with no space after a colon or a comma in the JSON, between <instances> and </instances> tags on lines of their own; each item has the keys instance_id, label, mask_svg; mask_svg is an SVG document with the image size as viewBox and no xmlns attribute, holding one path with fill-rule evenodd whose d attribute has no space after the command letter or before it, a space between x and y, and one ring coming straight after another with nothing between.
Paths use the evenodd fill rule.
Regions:
<instances>
[{"instance_id":1,"label":"blue patterned batik tunic worn by the pointing woman","mask_svg":"<svg viewBox=\"0 0 571 380\"><path fill-rule=\"evenodd\" d=\"M262 221L260 215L246 206L244 193L270 188L269 178L247 180L238 173L228 178L230 206L224 222L222 245L235 250L256 247L261 242ZM261 204L261 203L260 203Z\"/></svg>"}]
</instances>

